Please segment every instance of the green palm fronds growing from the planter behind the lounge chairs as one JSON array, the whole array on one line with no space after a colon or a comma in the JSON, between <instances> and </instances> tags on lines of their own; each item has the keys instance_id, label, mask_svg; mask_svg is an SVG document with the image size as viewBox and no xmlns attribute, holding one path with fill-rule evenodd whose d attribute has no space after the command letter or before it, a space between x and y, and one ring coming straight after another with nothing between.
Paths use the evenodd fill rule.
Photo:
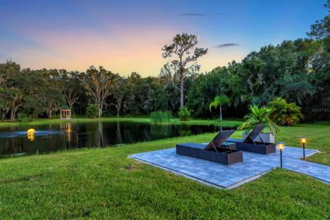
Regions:
<instances>
[{"instance_id":1,"label":"green palm fronds growing from the planter behind the lounge chairs","mask_svg":"<svg viewBox=\"0 0 330 220\"><path fill-rule=\"evenodd\" d=\"M244 116L245 122L239 126L239 130L245 130L245 133L248 133L254 126L263 124L270 128L272 133L278 132L278 126L270 120L270 111L272 109L268 109L266 107L258 107L256 105L249 106L250 113Z\"/></svg>"}]
</instances>

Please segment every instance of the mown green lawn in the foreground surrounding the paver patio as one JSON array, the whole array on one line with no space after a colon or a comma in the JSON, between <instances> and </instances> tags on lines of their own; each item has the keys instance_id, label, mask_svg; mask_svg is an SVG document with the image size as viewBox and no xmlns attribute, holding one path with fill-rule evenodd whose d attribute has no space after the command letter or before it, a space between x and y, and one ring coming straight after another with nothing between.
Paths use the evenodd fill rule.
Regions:
<instances>
[{"instance_id":1,"label":"mown green lawn in the foreground surrounding the paver patio","mask_svg":"<svg viewBox=\"0 0 330 220\"><path fill-rule=\"evenodd\" d=\"M276 141L300 146L305 135L322 151L310 160L330 165L329 133L303 124L281 128ZM213 136L0 159L0 219L330 219L330 186L306 175L276 169L219 190L127 158Z\"/></svg>"}]
</instances>

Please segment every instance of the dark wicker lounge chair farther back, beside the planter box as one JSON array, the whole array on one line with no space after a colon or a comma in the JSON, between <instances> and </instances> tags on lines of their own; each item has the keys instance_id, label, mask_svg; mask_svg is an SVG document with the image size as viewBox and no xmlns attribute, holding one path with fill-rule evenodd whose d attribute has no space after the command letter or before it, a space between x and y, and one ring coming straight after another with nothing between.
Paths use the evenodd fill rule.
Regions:
<instances>
[{"instance_id":1,"label":"dark wicker lounge chair farther back, beside the planter box","mask_svg":"<svg viewBox=\"0 0 330 220\"><path fill-rule=\"evenodd\" d=\"M263 129L265 129L265 126L257 125L244 140L229 138L227 141L235 143L237 150L261 154L275 153L275 144L263 142L263 139L259 135ZM261 142L254 141L256 137L259 137Z\"/></svg>"}]
</instances>

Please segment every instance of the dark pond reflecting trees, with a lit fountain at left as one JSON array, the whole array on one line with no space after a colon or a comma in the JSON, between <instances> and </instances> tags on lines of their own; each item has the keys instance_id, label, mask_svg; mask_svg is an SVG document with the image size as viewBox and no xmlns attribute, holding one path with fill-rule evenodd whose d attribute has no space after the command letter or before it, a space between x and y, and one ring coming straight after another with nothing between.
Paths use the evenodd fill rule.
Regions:
<instances>
[{"instance_id":1,"label":"dark pond reflecting trees, with a lit fountain at left","mask_svg":"<svg viewBox=\"0 0 330 220\"><path fill-rule=\"evenodd\" d=\"M28 133L28 129L35 132ZM232 129L232 128L223 128ZM39 126L0 126L0 157L39 154L69 148L131 144L166 137L219 131L213 125L149 124L140 122L87 122Z\"/></svg>"}]
</instances>

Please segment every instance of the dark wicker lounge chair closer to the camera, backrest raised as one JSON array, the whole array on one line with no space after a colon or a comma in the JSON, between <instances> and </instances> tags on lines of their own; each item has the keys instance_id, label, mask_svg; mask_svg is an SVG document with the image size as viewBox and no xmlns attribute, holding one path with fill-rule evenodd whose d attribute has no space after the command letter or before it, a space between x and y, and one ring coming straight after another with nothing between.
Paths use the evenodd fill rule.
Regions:
<instances>
[{"instance_id":1,"label":"dark wicker lounge chair closer to the camera, backrest raised","mask_svg":"<svg viewBox=\"0 0 330 220\"><path fill-rule=\"evenodd\" d=\"M196 143L177 144L177 154L225 165L243 162L243 152L236 150L236 144L226 142L232 133L234 133L233 130L220 131L207 145Z\"/></svg>"}]
</instances>

